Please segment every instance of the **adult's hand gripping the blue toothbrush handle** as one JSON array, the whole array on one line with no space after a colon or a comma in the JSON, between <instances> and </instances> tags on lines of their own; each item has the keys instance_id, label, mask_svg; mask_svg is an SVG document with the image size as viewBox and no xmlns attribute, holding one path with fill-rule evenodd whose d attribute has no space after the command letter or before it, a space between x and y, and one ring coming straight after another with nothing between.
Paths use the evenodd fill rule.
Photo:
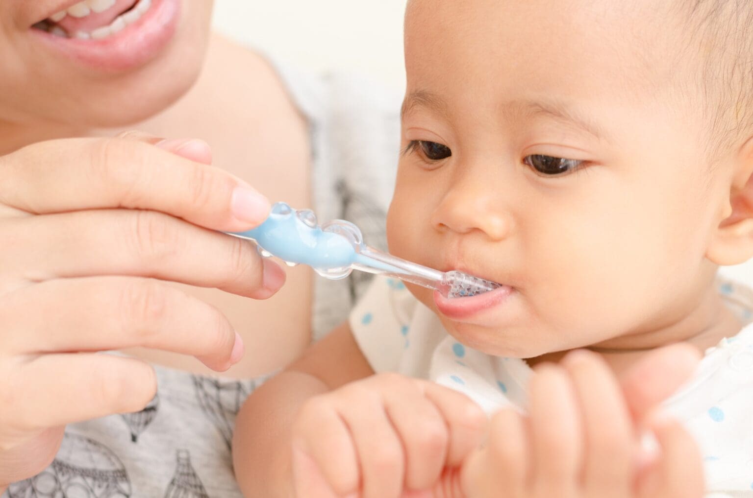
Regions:
<instances>
[{"instance_id":1,"label":"adult's hand gripping the blue toothbrush handle","mask_svg":"<svg viewBox=\"0 0 753 498\"><path fill-rule=\"evenodd\" d=\"M139 411L156 392L142 346L224 370L242 341L166 281L272 296L285 273L218 230L267 199L209 165L209 146L139 132L41 142L0 157L0 493L41 472L66 424Z\"/></svg>"}]
</instances>

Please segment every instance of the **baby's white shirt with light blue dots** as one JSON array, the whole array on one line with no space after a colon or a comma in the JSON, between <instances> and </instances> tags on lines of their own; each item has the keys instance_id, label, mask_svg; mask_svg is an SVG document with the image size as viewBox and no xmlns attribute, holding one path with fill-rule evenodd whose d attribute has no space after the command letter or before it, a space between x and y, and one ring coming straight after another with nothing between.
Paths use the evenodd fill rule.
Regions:
<instances>
[{"instance_id":1,"label":"baby's white shirt with light blue dots","mask_svg":"<svg viewBox=\"0 0 753 498\"><path fill-rule=\"evenodd\" d=\"M753 291L731 281L718 286L739 319L750 323ZM489 414L505 406L525 411L528 364L460 344L401 281L374 279L349 322L375 372L459 390ZM700 445L708 498L753 496L753 325L709 348L694 378L664 407Z\"/></svg>"}]
</instances>

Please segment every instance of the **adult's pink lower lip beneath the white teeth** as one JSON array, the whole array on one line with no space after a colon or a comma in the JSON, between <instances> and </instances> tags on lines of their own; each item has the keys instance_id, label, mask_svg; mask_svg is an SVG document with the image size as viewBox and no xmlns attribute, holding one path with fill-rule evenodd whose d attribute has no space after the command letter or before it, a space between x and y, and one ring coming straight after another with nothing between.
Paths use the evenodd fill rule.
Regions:
<instances>
[{"instance_id":1,"label":"adult's pink lower lip beneath the white teeth","mask_svg":"<svg viewBox=\"0 0 753 498\"><path fill-rule=\"evenodd\" d=\"M62 38L32 28L32 35L62 56L90 68L127 71L153 59L178 26L181 0L152 0L143 16L120 32L101 39Z\"/></svg>"}]
</instances>

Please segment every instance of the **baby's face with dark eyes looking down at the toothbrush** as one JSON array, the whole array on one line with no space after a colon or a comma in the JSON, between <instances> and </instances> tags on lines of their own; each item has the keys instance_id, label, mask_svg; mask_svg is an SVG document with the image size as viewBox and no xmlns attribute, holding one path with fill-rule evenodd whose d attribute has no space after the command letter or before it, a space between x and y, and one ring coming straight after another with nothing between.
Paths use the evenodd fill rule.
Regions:
<instances>
[{"instance_id":1,"label":"baby's face with dark eyes looking down at the toothbrush","mask_svg":"<svg viewBox=\"0 0 753 498\"><path fill-rule=\"evenodd\" d=\"M390 250L511 287L450 307L411 287L467 345L622 345L709 292L729 175L674 90L672 23L627 3L410 2Z\"/></svg>"}]
</instances>

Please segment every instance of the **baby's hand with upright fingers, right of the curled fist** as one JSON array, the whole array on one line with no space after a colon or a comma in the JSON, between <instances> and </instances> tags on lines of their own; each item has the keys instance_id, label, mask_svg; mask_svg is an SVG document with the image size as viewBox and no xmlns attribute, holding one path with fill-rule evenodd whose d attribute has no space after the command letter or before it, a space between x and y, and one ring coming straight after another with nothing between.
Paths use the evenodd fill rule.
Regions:
<instances>
[{"instance_id":1,"label":"baby's hand with upright fingers, right of the curled fist","mask_svg":"<svg viewBox=\"0 0 753 498\"><path fill-rule=\"evenodd\" d=\"M667 418L640 420L652 397L657 405L663 399L656 396L669 396L676 388L647 387L637 393L633 381L653 367L643 365L642 372L627 375L620 387L608 366L587 351L570 354L562 366L542 365L530 384L529 417L511 410L495 414L486 448L463 468L462 494L465 498L703 496L703 465L691 435ZM658 371L654 368L653 373ZM669 383L682 380L675 375ZM654 378L657 384L663 381ZM637 428L645 426L657 437L660 454L639 466Z\"/></svg>"}]
</instances>

